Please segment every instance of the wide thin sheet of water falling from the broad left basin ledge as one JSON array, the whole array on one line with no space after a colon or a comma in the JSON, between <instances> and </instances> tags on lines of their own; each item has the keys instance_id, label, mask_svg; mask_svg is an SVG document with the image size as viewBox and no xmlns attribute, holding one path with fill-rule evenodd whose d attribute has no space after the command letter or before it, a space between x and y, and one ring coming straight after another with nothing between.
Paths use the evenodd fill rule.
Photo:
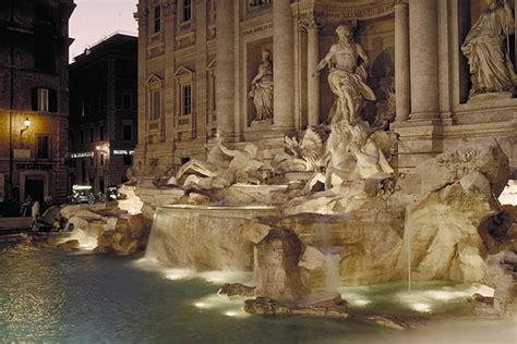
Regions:
<instances>
[{"instance_id":1,"label":"wide thin sheet of water falling from the broad left basin ledge","mask_svg":"<svg viewBox=\"0 0 517 344\"><path fill-rule=\"evenodd\" d=\"M145 260L199 271L252 271L248 221L276 216L276 208L165 206L156 209Z\"/></svg>"}]
</instances>

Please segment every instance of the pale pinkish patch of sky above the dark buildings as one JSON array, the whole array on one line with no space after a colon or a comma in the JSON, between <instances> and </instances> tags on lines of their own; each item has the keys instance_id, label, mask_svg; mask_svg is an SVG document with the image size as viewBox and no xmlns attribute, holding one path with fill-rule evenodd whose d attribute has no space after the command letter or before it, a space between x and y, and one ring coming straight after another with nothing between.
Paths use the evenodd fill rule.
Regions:
<instances>
[{"instance_id":1,"label":"pale pinkish patch of sky above the dark buildings","mask_svg":"<svg viewBox=\"0 0 517 344\"><path fill-rule=\"evenodd\" d=\"M136 3L137 0L75 0L77 7L70 19L70 37L75 41L70 47L70 59L117 30L136 35Z\"/></svg>"}]
</instances>

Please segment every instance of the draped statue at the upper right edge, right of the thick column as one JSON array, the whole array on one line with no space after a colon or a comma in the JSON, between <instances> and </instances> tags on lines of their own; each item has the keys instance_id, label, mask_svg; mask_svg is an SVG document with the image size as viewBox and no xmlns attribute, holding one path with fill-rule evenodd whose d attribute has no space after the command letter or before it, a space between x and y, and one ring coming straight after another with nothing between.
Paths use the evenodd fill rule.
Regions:
<instances>
[{"instance_id":1,"label":"draped statue at the upper right edge, right of the thick column","mask_svg":"<svg viewBox=\"0 0 517 344\"><path fill-rule=\"evenodd\" d=\"M470 97L515 89L517 79L508 41L514 30L514 11L507 1L492 0L461 46L470 66Z\"/></svg>"}]
</instances>

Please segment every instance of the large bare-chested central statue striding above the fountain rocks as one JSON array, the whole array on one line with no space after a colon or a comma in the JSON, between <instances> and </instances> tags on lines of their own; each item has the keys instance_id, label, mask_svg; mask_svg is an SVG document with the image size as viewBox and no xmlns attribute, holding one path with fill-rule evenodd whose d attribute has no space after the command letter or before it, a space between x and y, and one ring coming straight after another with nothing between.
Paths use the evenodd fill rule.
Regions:
<instances>
[{"instance_id":1,"label":"large bare-chested central statue striding above the fountain rocks","mask_svg":"<svg viewBox=\"0 0 517 344\"><path fill-rule=\"evenodd\" d=\"M328 84L338 97L329 114L333 122L345 119L353 124L360 116L364 99L376 100L373 90L365 83L368 54L361 45L353 41L356 26L356 23L348 22L336 28L339 41L330 47L313 74L313 77L318 75L325 66L330 70Z\"/></svg>"}]
</instances>

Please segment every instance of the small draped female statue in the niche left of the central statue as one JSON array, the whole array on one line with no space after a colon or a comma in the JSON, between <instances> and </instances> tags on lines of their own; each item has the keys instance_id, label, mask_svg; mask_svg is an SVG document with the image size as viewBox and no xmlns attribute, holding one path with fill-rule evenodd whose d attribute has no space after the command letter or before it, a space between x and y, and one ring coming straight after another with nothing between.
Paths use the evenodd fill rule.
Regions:
<instances>
[{"instance_id":1,"label":"small draped female statue in the niche left of the central statue","mask_svg":"<svg viewBox=\"0 0 517 344\"><path fill-rule=\"evenodd\" d=\"M258 73L251 82L250 98L255 105L255 121L263 121L273 118L273 62L270 50L262 50L262 62L258 65Z\"/></svg>"}]
</instances>

